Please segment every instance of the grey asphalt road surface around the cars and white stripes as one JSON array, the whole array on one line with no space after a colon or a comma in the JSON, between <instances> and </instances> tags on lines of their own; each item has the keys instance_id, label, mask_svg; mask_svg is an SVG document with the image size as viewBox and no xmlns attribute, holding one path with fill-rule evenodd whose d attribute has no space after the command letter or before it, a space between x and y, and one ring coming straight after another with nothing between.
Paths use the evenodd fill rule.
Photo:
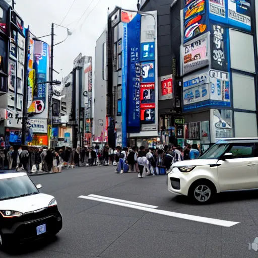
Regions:
<instances>
[{"instance_id":1,"label":"grey asphalt road surface around the cars and white stripes","mask_svg":"<svg viewBox=\"0 0 258 258\"><path fill-rule=\"evenodd\" d=\"M63 216L56 237L30 243L0 257L30 258L246 258L258 237L258 191L223 193L210 205L191 204L168 192L166 176L138 178L115 167L82 167L32 176L41 192L53 195ZM101 201L98 195L157 206L159 210L239 222L230 227L160 215ZM189 217L190 218L190 217Z\"/></svg>"}]
</instances>

